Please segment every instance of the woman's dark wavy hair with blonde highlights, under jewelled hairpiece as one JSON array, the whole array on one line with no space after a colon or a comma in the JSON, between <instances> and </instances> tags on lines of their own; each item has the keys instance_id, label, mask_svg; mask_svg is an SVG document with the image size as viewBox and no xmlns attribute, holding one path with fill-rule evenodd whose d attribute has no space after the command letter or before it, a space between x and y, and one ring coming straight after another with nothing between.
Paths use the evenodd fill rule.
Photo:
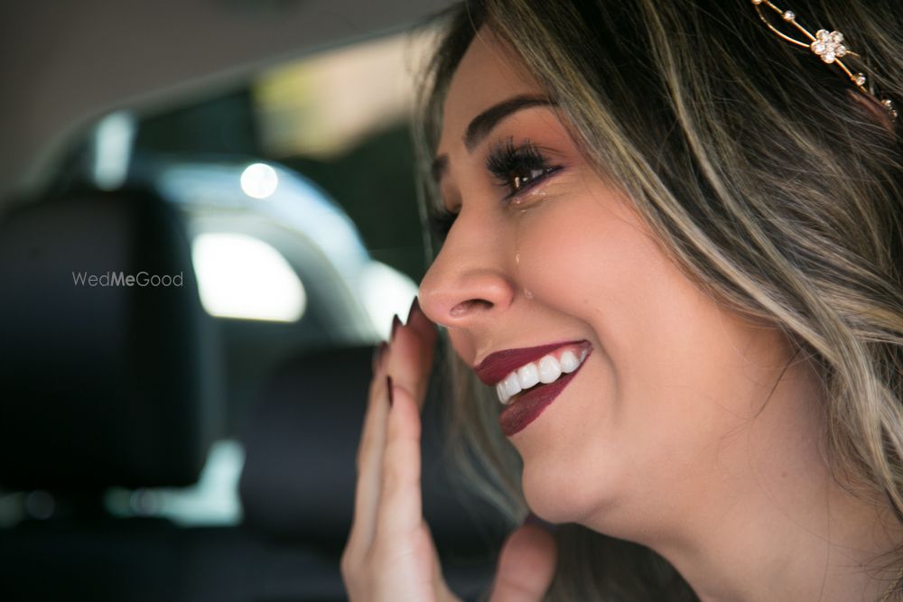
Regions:
<instances>
[{"instance_id":1,"label":"woman's dark wavy hair with blonde highlights, under jewelled hairpiece","mask_svg":"<svg viewBox=\"0 0 903 602\"><path fill-rule=\"evenodd\" d=\"M798 0L847 34L903 99L892 0ZM457 7L424 81L426 202L442 102L474 33L507 42L600 175L675 264L731 310L782 329L824 388L829 466L903 522L903 147L848 79L780 42L749 0L481 0ZM512 523L526 505L492 392L446 349L464 474ZM570 525L554 600L695 599L665 560ZM896 558L893 561L898 562Z\"/></svg>"}]
</instances>

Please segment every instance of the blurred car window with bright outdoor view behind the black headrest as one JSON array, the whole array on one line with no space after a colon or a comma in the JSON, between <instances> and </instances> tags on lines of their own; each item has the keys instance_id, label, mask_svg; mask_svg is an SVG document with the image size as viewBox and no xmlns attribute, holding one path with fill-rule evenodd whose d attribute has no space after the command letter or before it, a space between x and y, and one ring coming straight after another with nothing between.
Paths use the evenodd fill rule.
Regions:
<instances>
[{"instance_id":1,"label":"blurred car window with bright outdoor view behind the black headrest","mask_svg":"<svg viewBox=\"0 0 903 602\"><path fill-rule=\"evenodd\" d=\"M234 524L243 421L303 350L373 345L424 265L408 127L425 40L409 33L260 70L228 88L100 117L70 144L55 195L153 190L176 208L218 341L219 437L188 488L113 488L116 515ZM46 513L0 498L0 523ZM24 497L23 497L24 496Z\"/></svg>"}]
</instances>

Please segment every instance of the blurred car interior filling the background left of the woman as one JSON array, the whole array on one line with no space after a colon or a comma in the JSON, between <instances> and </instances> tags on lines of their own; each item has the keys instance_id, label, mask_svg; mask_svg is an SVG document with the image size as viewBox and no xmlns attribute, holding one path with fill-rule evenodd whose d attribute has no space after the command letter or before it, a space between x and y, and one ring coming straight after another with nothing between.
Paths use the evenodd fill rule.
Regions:
<instances>
[{"instance_id":1,"label":"blurred car interior filling the background left of the woman","mask_svg":"<svg viewBox=\"0 0 903 602\"><path fill-rule=\"evenodd\" d=\"M331 602L442 0L0 4L0 599ZM442 361L437 353L436 366ZM424 406L424 515L506 524Z\"/></svg>"}]
</instances>

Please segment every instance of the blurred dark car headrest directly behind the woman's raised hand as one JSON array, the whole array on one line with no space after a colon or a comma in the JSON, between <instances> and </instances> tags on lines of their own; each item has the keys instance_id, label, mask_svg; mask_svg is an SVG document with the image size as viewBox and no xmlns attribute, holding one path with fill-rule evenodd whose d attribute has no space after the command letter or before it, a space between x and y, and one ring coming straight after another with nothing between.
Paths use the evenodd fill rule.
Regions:
<instances>
[{"instance_id":1,"label":"blurred dark car headrest directly behind the woman's raised hand","mask_svg":"<svg viewBox=\"0 0 903 602\"><path fill-rule=\"evenodd\" d=\"M275 539L340 549L354 506L355 456L373 347L301 354L266 384L247 421L239 481L245 522ZM423 414L424 517L440 550L486 551L507 525L449 474L434 395Z\"/></svg>"}]
</instances>

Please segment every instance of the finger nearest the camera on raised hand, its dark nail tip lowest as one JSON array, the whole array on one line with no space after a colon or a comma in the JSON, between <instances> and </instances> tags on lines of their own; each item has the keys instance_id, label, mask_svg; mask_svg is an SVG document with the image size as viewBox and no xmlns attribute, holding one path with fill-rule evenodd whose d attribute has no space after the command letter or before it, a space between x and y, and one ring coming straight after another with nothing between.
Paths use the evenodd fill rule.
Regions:
<instances>
[{"instance_id":1,"label":"finger nearest the camera on raised hand, its dark nail tip lowest","mask_svg":"<svg viewBox=\"0 0 903 602\"><path fill-rule=\"evenodd\" d=\"M376 537L381 542L404 539L423 523L420 409L394 376L393 384L377 511Z\"/></svg>"}]
</instances>

